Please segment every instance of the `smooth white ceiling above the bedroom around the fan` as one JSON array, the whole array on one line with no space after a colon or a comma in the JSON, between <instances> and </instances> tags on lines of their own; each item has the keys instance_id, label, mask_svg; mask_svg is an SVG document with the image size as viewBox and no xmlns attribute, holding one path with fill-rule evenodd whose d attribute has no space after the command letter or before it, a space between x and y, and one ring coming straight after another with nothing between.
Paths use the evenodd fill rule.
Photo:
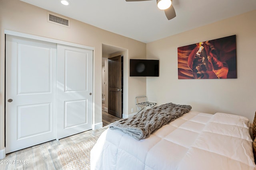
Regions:
<instances>
[{"instance_id":1,"label":"smooth white ceiling above the bedroom around the fan","mask_svg":"<svg viewBox=\"0 0 256 170\"><path fill-rule=\"evenodd\" d=\"M176 18L167 20L156 0L22 1L144 43L256 9L256 0L173 0Z\"/></svg>"}]
</instances>

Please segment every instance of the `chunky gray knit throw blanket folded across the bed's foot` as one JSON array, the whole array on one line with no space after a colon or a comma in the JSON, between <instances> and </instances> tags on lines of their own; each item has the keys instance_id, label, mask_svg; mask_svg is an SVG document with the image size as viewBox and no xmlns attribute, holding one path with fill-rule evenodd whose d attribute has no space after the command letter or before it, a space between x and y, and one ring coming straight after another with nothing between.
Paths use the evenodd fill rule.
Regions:
<instances>
[{"instance_id":1,"label":"chunky gray knit throw blanket folded across the bed's foot","mask_svg":"<svg viewBox=\"0 0 256 170\"><path fill-rule=\"evenodd\" d=\"M110 124L109 128L122 131L137 140L145 139L154 130L174 121L191 109L192 107L189 105L167 103L141 111L132 117L115 121Z\"/></svg>"}]
</instances>

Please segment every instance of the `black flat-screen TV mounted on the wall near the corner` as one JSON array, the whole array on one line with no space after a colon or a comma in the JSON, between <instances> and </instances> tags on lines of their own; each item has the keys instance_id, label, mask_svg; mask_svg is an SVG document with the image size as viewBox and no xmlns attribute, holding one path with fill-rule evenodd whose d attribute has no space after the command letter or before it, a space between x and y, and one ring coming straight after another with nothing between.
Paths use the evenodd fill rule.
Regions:
<instances>
[{"instance_id":1,"label":"black flat-screen TV mounted on the wall near the corner","mask_svg":"<svg viewBox=\"0 0 256 170\"><path fill-rule=\"evenodd\" d=\"M159 60L130 59L130 76L158 77Z\"/></svg>"}]
</instances>

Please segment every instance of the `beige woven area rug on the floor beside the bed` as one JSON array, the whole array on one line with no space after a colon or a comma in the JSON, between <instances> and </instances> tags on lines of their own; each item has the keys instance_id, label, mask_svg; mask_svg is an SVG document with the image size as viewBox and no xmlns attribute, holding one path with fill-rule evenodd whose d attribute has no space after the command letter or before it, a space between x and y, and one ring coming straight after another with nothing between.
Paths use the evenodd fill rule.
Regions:
<instances>
[{"instance_id":1,"label":"beige woven area rug on the floor beside the bed","mask_svg":"<svg viewBox=\"0 0 256 170\"><path fill-rule=\"evenodd\" d=\"M90 170L90 151L98 140L92 137L58 151L58 157L64 170Z\"/></svg>"}]
</instances>

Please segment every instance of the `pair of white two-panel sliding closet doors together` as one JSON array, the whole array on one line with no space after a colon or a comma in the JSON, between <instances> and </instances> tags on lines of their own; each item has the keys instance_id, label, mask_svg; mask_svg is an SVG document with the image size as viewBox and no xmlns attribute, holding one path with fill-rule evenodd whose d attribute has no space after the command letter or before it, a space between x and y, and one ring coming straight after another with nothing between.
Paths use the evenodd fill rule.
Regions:
<instances>
[{"instance_id":1,"label":"pair of white two-panel sliding closet doors together","mask_svg":"<svg viewBox=\"0 0 256 170\"><path fill-rule=\"evenodd\" d=\"M6 153L92 129L93 50L6 35Z\"/></svg>"}]
</instances>

